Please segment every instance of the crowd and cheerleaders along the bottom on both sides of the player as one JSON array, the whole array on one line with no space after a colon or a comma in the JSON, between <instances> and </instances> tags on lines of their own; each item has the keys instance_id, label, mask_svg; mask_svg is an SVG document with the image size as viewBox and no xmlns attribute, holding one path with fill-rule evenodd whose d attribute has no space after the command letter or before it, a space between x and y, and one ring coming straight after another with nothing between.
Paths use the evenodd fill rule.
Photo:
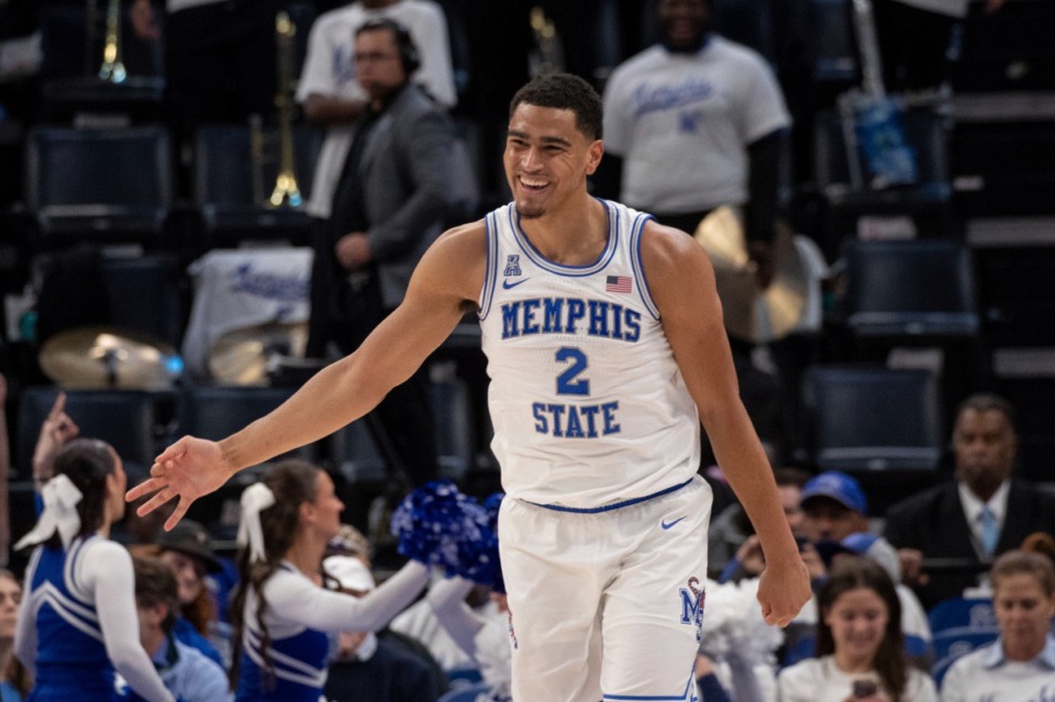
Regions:
<instances>
[{"instance_id":1,"label":"crowd and cheerleaders along the bottom on both sides of the player","mask_svg":"<svg viewBox=\"0 0 1055 702\"><path fill-rule=\"evenodd\" d=\"M965 400L953 478L879 520L851 475L776 468L814 588L782 631L757 614L765 564L749 521L737 504L715 514L701 699L1055 699L1055 497L1013 477L1013 422L998 397ZM375 544L342 524L331 477L279 461L242 494L232 561L187 520L152 543L114 541L144 541L113 531L125 515L121 458L76 434L59 400L34 459L38 521L14 547L32 554L29 567L23 579L0 571L3 702L396 702L459 688L510 699L500 567L466 555L497 561L500 493L478 504L452 483L411 492L392 517L404 565L380 570ZM464 530L426 512L486 523L487 544L458 542ZM965 598L986 614L942 621Z\"/></svg>"}]
</instances>

